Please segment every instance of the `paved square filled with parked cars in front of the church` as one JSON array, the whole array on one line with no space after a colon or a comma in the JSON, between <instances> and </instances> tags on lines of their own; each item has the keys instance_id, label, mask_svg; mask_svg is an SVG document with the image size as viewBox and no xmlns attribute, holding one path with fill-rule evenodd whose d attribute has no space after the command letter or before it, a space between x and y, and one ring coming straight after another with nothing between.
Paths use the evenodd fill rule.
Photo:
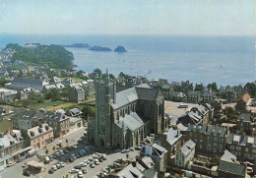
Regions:
<instances>
[{"instance_id":1,"label":"paved square filled with parked cars in front of the church","mask_svg":"<svg viewBox=\"0 0 256 178\"><path fill-rule=\"evenodd\" d=\"M50 148L48 148L50 150L48 153L48 162L45 162L44 168L40 173L32 173L30 177L62 178L69 172L72 172L71 177L73 178L79 177L79 173L80 177L94 177L99 173L99 171L106 172L107 166L112 164L116 159L126 159L127 153L129 154L130 159L135 158L135 156L139 154L138 150L129 152L125 151L122 153L121 150L115 152L113 150L93 148L92 146L89 147L90 145L87 142L87 138L84 137L81 139L84 136L84 131L85 129L68 137L73 141L72 144L68 144L69 148L66 148L65 146L65 148L55 150L55 153L53 153L52 149L50 150ZM62 143L64 145L65 140L66 138L57 140L54 145L50 147L56 147L57 143ZM45 160L43 155L44 151L45 150L40 150L37 153L38 156L41 155L41 157L43 157L42 159ZM70 157L73 157L74 160L70 160ZM23 171L27 169L27 166L23 167L23 164L31 160L39 160L39 158L37 159L36 155L33 155L32 157L22 160L12 167L8 167L3 170L0 173L1 177L10 178L10 173L12 173L12 178L27 177L23 175Z\"/></svg>"}]
</instances>

